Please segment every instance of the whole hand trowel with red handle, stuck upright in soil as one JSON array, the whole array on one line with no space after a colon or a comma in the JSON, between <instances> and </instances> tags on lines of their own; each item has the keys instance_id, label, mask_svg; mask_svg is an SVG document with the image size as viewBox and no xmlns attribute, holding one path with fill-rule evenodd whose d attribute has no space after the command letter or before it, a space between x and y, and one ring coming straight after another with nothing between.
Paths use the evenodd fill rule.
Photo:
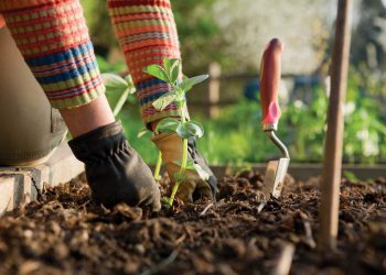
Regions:
<instances>
[{"instance_id":1,"label":"whole hand trowel with red handle, stuck upright in soil","mask_svg":"<svg viewBox=\"0 0 386 275\"><path fill-rule=\"evenodd\" d=\"M271 40L264 51L260 66L260 102L262 109L262 131L267 133L274 144L281 151L281 157L268 162L264 179L264 194L280 197L287 168L290 162L286 145L278 139L275 132L278 130L280 107L278 90L281 75L281 53L283 46L278 38Z\"/></svg>"}]
</instances>

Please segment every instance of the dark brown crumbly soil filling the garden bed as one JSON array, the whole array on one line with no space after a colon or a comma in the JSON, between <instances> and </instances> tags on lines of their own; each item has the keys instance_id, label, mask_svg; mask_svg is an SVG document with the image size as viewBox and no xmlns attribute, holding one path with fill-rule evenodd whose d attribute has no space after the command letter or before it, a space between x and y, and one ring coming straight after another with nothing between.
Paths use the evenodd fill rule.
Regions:
<instances>
[{"instance_id":1,"label":"dark brown crumbly soil filling the garden bed","mask_svg":"<svg viewBox=\"0 0 386 275\"><path fill-rule=\"evenodd\" d=\"M287 179L266 204L255 172L227 176L218 199L158 217L89 199L83 178L0 219L0 274L386 274L386 180L342 180L337 250L319 253L319 179Z\"/></svg>"}]
</instances>

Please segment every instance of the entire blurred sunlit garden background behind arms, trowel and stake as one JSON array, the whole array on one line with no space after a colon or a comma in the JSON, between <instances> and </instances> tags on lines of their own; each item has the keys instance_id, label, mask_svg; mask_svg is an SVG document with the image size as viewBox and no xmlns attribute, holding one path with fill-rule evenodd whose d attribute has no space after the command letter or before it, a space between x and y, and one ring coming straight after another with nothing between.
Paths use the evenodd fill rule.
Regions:
<instances>
[{"instance_id":1,"label":"entire blurred sunlit garden background behind arms, trowel and stake","mask_svg":"<svg viewBox=\"0 0 386 275\"><path fill-rule=\"evenodd\" d=\"M128 74L111 33L106 0L83 0L103 72ZM200 151L212 164L265 162L277 155L260 130L258 72L265 44L285 43L278 135L293 162L321 162L334 37L334 0L172 0L187 76L210 74L190 92L203 123ZM386 162L386 1L356 0L345 114L344 162ZM219 84L219 89L215 87ZM218 100L216 99L219 92ZM114 97L108 94L108 97ZM129 98L119 118L130 143L154 163L157 150Z\"/></svg>"}]
</instances>

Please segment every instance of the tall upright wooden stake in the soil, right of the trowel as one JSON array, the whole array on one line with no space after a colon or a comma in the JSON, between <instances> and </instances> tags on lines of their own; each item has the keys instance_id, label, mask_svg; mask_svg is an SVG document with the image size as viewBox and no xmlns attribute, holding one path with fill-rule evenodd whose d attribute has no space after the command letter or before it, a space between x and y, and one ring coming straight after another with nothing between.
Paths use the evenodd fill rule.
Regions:
<instances>
[{"instance_id":1,"label":"tall upright wooden stake in the soil, right of the trowel","mask_svg":"<svg viewBox=\"0 0 386 275\"><path fill-rule=\"evenodd\" d=\"M346 94L351 41L351 7L352 0L339 0L321 183L319 249L322 251L336 248L344 127L343 103Z\"/></svg>"}]
</instances>

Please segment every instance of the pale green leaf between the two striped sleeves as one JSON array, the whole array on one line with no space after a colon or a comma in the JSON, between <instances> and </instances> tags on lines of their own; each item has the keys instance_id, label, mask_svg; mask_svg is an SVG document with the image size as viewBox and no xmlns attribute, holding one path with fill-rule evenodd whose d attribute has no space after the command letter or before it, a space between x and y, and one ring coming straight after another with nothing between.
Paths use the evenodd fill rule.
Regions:
<instances>
[{"instance_id":1,"label":"pale green leaf between the two striped sleeves","mask_svg":"<svg viewBox=\"0 0 386 275\"><path fill-rule=\"evenodd\" d=\"M110 106L114 106L112 113L117 117L126 101L135 101L135 97L130 97L136 94L135 84L130 75L122 78L118 75L106 73L101 74L101 78L106 86L106 97Z\"/></svg>"}]
</instances>

